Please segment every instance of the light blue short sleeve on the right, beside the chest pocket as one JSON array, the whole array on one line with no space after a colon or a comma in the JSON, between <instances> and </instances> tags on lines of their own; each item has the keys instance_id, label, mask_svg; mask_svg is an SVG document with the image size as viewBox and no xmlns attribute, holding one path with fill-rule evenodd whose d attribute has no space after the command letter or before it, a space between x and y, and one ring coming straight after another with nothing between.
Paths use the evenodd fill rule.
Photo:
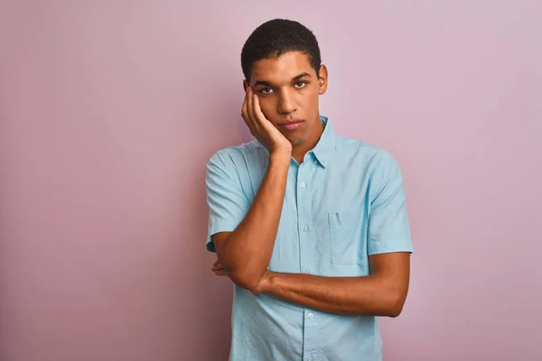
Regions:
<instances>
[{"instance_id":1,"label":"light blue short sleeve on the right, beside the chest pocket","mask_svg":"<svg viewBox=\"0 0 542 361\"><path fill-rule=\"evenodd\" d=\"M378 187L369 211L368 254L412 253L403 177L397 161L385 151L375 170L375 180Z\"/></svg>"}]
</instances>

